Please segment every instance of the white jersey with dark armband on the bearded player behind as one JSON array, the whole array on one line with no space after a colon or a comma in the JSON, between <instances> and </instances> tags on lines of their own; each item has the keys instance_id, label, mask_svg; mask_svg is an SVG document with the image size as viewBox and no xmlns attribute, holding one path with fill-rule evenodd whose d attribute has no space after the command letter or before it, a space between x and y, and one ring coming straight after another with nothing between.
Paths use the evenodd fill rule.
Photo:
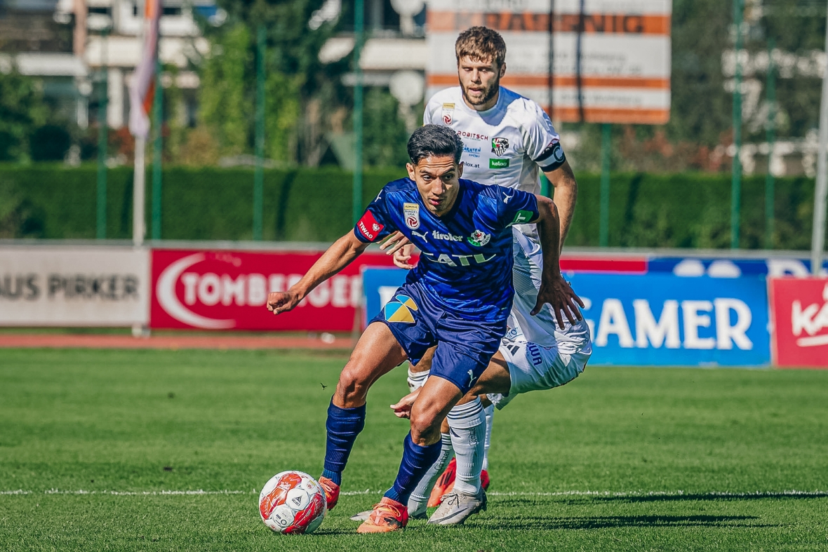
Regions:
<instances>
[{"instance_id":1,"label":"white jersey with dark armband on the bearded player behind","mask_svg":"<svg viewBox=\"0 0 828 552\"><path fill-rule=\"evenodd\" d=\"M538 170L555 170L566 159L560 137L541 106L503 87L498 103L488 111L469 108L459 86L441 90L426 105L423 123L443 124L457 132L464 144L463 178L481 184L540 194ZM574 330L575 335L570 334L573 329L569 326L561 331L549 305L537 316L529 314L540 286L541 247L535 224L516 224L513 228L519 230L514 232L514 319L533 343L543 347L560 343L563 348L572 343L573 347L580 347L580 326Z\"/></svg>"}]
</instances>

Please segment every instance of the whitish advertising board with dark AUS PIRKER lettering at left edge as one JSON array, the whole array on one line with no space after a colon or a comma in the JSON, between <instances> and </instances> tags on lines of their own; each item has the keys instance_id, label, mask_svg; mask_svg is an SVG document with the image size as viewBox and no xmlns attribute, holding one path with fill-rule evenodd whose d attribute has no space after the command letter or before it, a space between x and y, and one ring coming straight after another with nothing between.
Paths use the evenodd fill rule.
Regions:
<instances>
[{"instance_id":1,"label":"whitish advertising board with dark AUS PIRKER lettering at left edge","mask_svg":"<svg viewBox=\"0 0 828 552\"><path fill-rule=\"evenodd\" d=\"M149 319L149 252L0 247L0 325L132 326Z\"/></svg>"}]
</instances>

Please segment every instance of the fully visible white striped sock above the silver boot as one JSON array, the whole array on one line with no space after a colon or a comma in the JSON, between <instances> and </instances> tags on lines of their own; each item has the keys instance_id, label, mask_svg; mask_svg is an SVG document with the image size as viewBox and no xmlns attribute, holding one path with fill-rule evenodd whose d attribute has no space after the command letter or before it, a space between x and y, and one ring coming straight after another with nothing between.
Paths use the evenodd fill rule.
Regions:
<instances>
[{"instance_id":1,"label":"fully visible white striped sock above the silver boot","mask_svg":"<svg viewBox=\"0 0 828 552\"><path fill-rule=\"evenodd\" d=\"M455 491L465 495L480 492L480 469L483 468L483 452L486 440L486 415L480 399L449 411L451 444L457 458Z\"/></svg>"}]
</instances>

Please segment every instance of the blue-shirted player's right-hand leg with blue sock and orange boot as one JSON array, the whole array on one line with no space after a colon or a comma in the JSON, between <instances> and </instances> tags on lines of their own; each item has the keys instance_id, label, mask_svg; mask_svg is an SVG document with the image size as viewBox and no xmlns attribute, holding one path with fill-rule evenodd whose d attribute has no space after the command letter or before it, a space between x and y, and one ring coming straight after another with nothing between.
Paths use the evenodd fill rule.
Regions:
<instances>
[{"instance_id":1,"label":"blue-shirted player's right-hand leg with blue sock and orange boot","mask_svg":"<svg viewBox=\"0 0 828 552\"><path fill-rule=\"evenodd\" d=\"M428 379L412 406L411 431L402 442L402 462L397 478L357 532L384 533L407 525L408 498L440 455L440 423L463 397L463 391L454 382L443 378Z\"/></svg>"}]
</instances>

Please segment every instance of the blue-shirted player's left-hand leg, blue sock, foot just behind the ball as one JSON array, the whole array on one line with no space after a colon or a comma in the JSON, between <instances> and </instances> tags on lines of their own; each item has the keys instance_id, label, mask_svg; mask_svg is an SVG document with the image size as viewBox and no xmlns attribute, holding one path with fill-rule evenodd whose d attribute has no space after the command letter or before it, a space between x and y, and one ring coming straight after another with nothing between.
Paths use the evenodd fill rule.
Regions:
<instances>
[{"instance_id":1,"label":"blue-shirted player's left-hand leg, blue sock, foot just behind the ball","mask_svg":"<svg viewBox=\"0 0 828 552\"><path fill-rule=\"evenodd\" d=\"M385 324L374 322L359 338L348 363L339 374L336 392L328 406L325 422L325 469L320 484L325 489L328 509L336 506L342 472L354 441L365 425L365 398L368 389L383 374L406 358L400 343Z\"/></svg>"}]
</instances>

